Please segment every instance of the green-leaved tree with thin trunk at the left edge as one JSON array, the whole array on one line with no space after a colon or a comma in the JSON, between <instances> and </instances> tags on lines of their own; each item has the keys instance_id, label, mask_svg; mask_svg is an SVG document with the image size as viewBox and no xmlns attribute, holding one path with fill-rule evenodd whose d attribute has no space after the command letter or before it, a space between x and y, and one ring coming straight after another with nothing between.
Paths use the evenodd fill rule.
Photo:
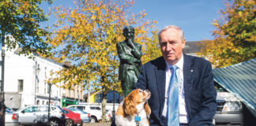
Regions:
<instances>
[{"instance_id":1,"label":"green-leaved tree with thin trunk at the left edge","mask_svg":"<svg viewBox=\"0 0 256 126\"><path fill-rule=\"evenodd\" d=\"M0 99L0 125L4 125L4 62L5 47L7 50L17 46L22 48L19 54L32 57L34 53L49 54L51 46L43 39L49 34L40 28L40 23L47 20L47 16L40 9L43 1L51 0L2 0L0 2L0 42L2 43L2 98Z\"/></svg>"}]
</instances>

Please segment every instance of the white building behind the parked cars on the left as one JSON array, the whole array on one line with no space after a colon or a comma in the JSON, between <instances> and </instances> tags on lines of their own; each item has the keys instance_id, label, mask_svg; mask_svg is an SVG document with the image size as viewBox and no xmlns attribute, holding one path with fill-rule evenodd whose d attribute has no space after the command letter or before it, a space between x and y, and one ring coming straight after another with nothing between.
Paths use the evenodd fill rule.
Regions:
<instances>
[{"instance_id":1,"label":"white building behind the parked cars on the left","mask_svg":"<svg viewBox=\"0 0 256 126\"><path fill-rule=\"evenodd\" d=\"M4 92L6 106L22 108L28 105L47 105L47 91L50 72L62 69L62 65L49 59L36 56L34 60L17 55L15 51L6 51ZM2 60L2 58L1 58ZM2 67L0 67L2 69ZM2 71L0 70L0 74ZM61 83L51 87L51 104L61 106Z\"/></svg>"}]
</instances>

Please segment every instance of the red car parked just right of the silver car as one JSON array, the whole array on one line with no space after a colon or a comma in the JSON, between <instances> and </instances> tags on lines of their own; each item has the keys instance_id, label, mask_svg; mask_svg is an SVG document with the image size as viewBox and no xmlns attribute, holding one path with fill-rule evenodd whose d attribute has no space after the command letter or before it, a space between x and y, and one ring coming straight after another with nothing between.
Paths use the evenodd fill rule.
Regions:
<instances>
[{"instance_id":1,"label":"red car parked just right of the silver car","mask_svg":"<svg viewBox=\"0 0 256 126\"><path fill-rule=\"evenodd\" d=\"M66 116L66 126L81 125L80 113L73 113L70 109L62 108Z\"/></svg>"}]
</instances>

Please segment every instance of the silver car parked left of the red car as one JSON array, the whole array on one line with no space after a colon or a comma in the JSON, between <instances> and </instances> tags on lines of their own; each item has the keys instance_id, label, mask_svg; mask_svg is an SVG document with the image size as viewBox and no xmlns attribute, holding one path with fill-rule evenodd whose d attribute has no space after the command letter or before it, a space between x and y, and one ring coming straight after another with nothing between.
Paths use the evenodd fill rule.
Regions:
<instances>
[{"instance_id":1,"label":"silver car parked left of the red car","mask_svg":"<svg viewBox=\"0 0 256 126\"><path fill-rule=\"evenodd\" d=\"M50 106L50 118L48 121L48 106L26 106L17 110L21 124L65 124L65 113L59 106Z\"/></svg>"}]
</instances>

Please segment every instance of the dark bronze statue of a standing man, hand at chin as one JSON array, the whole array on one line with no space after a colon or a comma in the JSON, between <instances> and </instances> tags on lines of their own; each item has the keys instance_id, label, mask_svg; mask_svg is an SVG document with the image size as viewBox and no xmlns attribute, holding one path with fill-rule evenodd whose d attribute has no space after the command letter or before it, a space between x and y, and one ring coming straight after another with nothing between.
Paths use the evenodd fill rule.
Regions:
<instances>
[{"instance_id":1,"label":"dark bronze statue of a standing man, hand at chin","mask_svg":"<svg viewBox=\"0 0 256 126\"><path fill-rule=\"evenodd\" d=\"M131 26L123 28L123 35L126 39L117 43L116 48L119 54L119 80L121 80L124 97L129 95L137 83L141 72L141 44L134 42L134 28Z\"/></svg>"}]
</instances>

